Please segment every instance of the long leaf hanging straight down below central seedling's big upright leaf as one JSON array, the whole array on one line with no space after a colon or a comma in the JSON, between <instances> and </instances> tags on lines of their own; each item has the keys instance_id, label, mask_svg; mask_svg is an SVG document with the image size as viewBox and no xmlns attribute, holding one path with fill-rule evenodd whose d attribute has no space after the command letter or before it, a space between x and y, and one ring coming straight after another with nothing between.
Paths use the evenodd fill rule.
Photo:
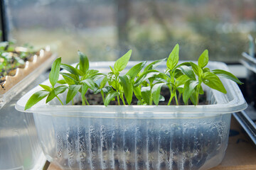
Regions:
<instances>
[{"instance_id":1,"label":"long leaf hanging straight down below central seedling's big upright leaf","mask_svg":"<svg viewBox=\"0 0 256 170\"><path fill-rule=\"evenodd\" d=\"M119 77L119 79L124 89L124 96L127 99L128 105L130 105L132 103L132 94L133 94L132 80L127 75L124 75L124 77Z\"/></svg>"}]
</instances>

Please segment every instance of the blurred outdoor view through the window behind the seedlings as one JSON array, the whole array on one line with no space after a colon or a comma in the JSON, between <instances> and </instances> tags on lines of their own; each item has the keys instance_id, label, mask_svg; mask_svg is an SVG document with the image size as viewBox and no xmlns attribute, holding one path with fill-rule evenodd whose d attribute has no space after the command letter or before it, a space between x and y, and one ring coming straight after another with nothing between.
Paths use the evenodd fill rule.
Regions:
<instances>
[{"instance_id":1,"label":"blurred outdoor view through the window behind the seedlings","mask_svg":"<svg viewBox=\"0 0 256 170\"><path fill-rule=\"evenodd\" d=\"M168 57L174 45L181 60L238 62L247 35L256 37L255 0L16 0L6 1L9 38L18 44L50 45L64 62Z\"/></svg>"}]
</instances>

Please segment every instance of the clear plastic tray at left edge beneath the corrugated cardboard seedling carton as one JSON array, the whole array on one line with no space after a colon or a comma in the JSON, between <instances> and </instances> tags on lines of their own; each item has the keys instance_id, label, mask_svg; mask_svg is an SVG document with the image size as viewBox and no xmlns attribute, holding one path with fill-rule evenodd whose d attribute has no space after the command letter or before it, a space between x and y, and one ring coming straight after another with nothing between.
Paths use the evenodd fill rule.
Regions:
<instances>
[{"instance_id":1,"label":"clear plastic tray at left edge beneath the corrugated cardboard seedling carton","mask_svg":"<svg viewBox=\"0 0 256 170\"><path fill-rule=\"evenodd\" d=\"M46 162L33 114L16 111L15 104L18 98L47 79L48 75L42 73L50 67L55 57L49 57L22 81L0 95L0 170L38 170Z\"/></svg>"}]
</instances>

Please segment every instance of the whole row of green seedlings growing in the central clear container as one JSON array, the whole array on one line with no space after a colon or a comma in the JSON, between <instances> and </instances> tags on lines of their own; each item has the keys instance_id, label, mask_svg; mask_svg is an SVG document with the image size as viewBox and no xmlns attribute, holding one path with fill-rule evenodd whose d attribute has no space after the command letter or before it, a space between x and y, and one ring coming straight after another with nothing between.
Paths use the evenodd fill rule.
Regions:
<instances>
[{"instance_id":1,"label":"whole row of green seedlings growing in the central clear container","mask_svg":"<svg viewBox=\"0 0 256 170\"><path fill-rule=\"evenodd\" d=\"M129 50L114 62L114 67L110 66L111 72L108 74L89 69L89 60L82 52L78 52L80 62L76 67L61 64L61 59L58 58L53 62L49 74L51 86L40 84L43 90L36 92L28 99L25 110L31 108L46 96L46 103L48 103L53 98L58 98L58 94L67 90L65 104L70 102L74 104L73 98L80 93L82 105L89 105L85 94L90 90L94 94L101 94L105 106L108 106L110 101L115 100L117 100L118 105L130 105L133 96L138 99L138 105L159 105L159 101L165 100L164 96L161 96L163 86L168 87L170 91L167 105L170 105L171 101L175 101L176 105L179 105L181 104L181 98L186 105L189 99L194 105L198 105L199 95L204 94L202 84L224 94L227 91L220 78L230 79L237 84L242 84L230 72L221 69L210 70L207 67L208 50L201 54L197 64L194 62L178 63L178 53L179 45L177 44L167 59L156 60L148 65L146 65L146 62L139 62L139 64L124 72L132 55L132 50ZM166 62L167 68L165 72L160 72L156 68L163 62ZM64 71L60 72L60 68ZM63 79L59 80L60 75ZM58 100L63 105L60 98Z\"/></svg>"}]
</instances>

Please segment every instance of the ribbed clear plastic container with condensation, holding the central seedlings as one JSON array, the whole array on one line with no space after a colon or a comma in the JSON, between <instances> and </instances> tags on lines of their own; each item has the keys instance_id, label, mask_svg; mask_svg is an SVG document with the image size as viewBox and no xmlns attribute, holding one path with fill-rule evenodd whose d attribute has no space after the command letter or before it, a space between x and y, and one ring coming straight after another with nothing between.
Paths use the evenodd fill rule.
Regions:
<instances>
[{"instance_id":1,"label":"ribbed clear plastic container with condensation, holding the central seedlings","mask_svg":"<svg viewBox=\"0 0 256 170\"><path fill-rule=\"evenodd\" d=\"M91 64L91 68L105 66ZM221 62L210 62L208 67L228 69ZM224 157L230 113L247 107L233 81L223 79L223 84L227 94L203 87L209 105L60 106L54 100L41 101L28 112L33 113L46 158L62 169L205 170ZM23 96L16 109L23 111L38 90L39 86ZM60 98L65 101L65 94Z\"/></svg>"}]
</instances>

